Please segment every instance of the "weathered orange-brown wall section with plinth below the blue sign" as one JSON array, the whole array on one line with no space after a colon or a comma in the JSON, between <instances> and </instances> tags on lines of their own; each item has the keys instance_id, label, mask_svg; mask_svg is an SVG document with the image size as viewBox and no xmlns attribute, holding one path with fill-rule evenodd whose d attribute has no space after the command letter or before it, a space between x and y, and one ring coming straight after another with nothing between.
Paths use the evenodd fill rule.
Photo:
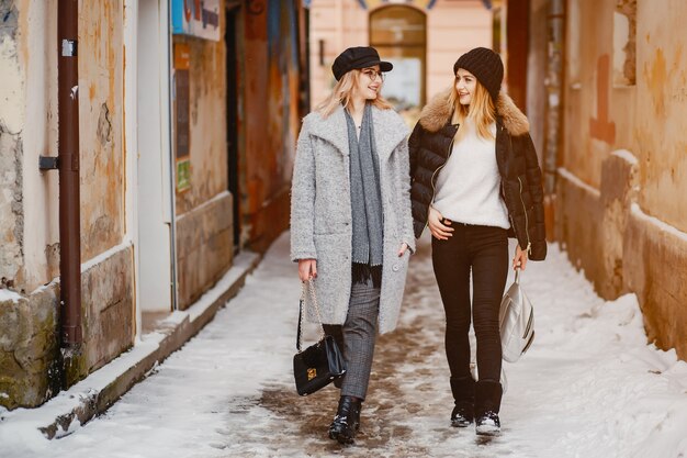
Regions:
<instances>
[{"instance_id":1,"label":"weathered orange-brown wall section with plinth below the blue sign","mask_svg":"<svg viewBox=\"0 0 687 458\"><path fill-rule=\"evenodd\" d=\"M224 14L221 27L226 30ZM226 44L183 35L173 43L190 52L191 179L188 189L177 190L178 303L183 310L229 268L234 222L227 192Z\"/></svg>"}]
</instances>

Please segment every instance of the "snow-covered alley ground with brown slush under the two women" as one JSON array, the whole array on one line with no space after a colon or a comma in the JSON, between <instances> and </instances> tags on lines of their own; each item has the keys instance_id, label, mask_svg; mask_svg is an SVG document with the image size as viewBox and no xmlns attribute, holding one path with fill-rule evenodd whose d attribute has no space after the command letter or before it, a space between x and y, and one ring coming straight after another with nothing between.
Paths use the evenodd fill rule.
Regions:
<instances>
[{"instance_id":1,"label":"snow-covered alley ground with brown slush under the two women","mask_svg":"<svg viewBox=\"0 0 687 458\"><path fill-rule=\"evenodd\" d=\"M0 457L687 456L687 364L646 345L633 295L600 300L556 245L521 279L537 337L505 364L502 435L450 427L427 239L410 264L399 326L378 344L357 444L342 448L326 437L335 389L295 394L300 283L288 257L284 234L227 308L101 417L52 442L0 424Z\"/></svg>"}]
</instances>

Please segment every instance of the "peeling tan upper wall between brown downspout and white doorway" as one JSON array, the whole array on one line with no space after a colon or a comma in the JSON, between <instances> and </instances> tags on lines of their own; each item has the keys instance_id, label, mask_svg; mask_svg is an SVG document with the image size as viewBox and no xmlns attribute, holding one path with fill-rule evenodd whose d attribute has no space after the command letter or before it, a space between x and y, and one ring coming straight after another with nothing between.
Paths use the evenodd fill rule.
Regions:
<instances>
[{"instance_id":1,"label":"peeling tan upper wall between brown downspout and white doorway","mask_svg":"<svg viewBox=\"0 0 687 458\"><path fill-rule=\"evenodd\" d=\"M82 1L79 10L81 259L124 235L123 0Z\"/></svg>"}]
</instances>

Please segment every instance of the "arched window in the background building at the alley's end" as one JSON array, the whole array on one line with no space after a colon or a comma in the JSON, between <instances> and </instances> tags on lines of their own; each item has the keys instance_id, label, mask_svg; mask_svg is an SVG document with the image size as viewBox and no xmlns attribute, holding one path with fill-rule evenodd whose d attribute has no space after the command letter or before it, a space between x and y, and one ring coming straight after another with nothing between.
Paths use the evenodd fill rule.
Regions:
<instances>
[{"instance_id":1,"label":"arched window in the background building at the alley's end","mask_svg":"<svg viewBox=\"0 0 687 458\"><path fill-rule=\"evenodd\" d=\"M382 93L398 109L425 104L427 18L413 7L383 7L370 13L370 46L394 64Z\"/></svg>"}]
</instances>

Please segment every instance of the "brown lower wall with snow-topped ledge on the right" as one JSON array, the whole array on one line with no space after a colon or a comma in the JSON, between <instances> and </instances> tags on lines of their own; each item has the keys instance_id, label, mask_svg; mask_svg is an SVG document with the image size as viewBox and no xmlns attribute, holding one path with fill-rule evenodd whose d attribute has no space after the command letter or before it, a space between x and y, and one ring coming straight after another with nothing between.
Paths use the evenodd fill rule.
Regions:
<instances>
[{"instance_id":1,"label":"brown lower wall with snow-topped ledge on the right","mask_svg":"<svg viewBox=\"0 0 687 458\"><path fill-rule=\"evenodd\" d=\"M561 169L556 239L604 299L638 295L649 342L687 358L687 235L638 204L639 164L627 150L602 161L600 191Z\"/></svg>"}]
</instances>

